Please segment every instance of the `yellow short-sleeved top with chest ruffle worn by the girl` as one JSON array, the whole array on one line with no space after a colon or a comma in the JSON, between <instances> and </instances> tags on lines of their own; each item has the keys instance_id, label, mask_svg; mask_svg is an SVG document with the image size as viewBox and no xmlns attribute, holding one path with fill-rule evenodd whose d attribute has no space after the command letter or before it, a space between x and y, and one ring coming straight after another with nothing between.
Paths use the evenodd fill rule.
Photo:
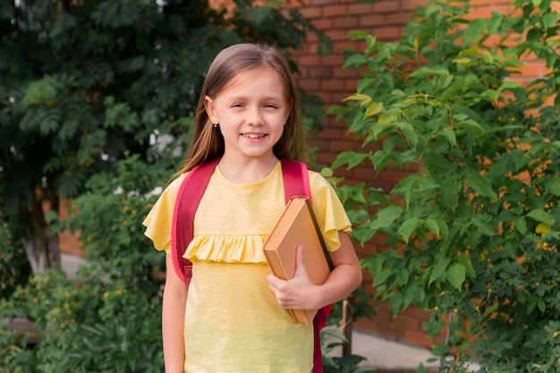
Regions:
<instances>
[{"instance_id":1,"label":"yellow short-sleeved top with chest ruffle worn by the girl","mask_svg":"<svg viewBox=\"0 0 560 373\"><path fill-rule=\"evenodd\" d=\"M313 210L327 249L340 246L338 231L351 225L335 191L309 172ZM174 200L184 175L149 212L146 235L171 252ZM200 199L194 236L184 257L193 263L186 304L185 364L189 373L309 373L313 326L297 325L267 285L262 251L285 207L282 168L264 180L235 184L216 167Z\"/></svg>"}]
</instances>

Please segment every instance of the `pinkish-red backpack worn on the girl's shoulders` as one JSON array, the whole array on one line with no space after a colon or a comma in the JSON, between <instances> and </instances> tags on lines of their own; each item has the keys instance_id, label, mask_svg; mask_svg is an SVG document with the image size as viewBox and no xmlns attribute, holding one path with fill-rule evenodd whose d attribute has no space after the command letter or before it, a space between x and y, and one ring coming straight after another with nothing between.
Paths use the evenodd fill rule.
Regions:
<instances>
[{"instance_id":1,"label":"pinkish-red backpack worn on the girl's shoulders","mask_svg":"<svg viewBox=\"0 0 560 373\"><path fill-rule=\"evenodd\" d=\"M182 182L177 193L177 199L175 199L173 224L171 227L171 255L175 272L187 286L191 282L192 263L182 258L182 255L192 240L194 215L197 208L199 208L200 199L219 160L217 158L193 168ZM294 196L306 196L312 202L307 165L288 159L283 159L281 164L286 203ZM177 250L177 248L180 250ZM319 330L327 325L327 318L331 307L331 305L328 305L319 309L313 319L313 373L323 373Z\"/></svg>"}]
</instances>

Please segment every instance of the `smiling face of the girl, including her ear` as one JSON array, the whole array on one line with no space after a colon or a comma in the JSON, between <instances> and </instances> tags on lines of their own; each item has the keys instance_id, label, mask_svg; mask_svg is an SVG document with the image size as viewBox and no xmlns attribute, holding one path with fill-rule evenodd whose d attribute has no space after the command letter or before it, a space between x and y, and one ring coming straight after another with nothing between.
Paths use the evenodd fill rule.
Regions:
<instances>
[{"instance_id":1,"label":"smiling face of the girl, including her ear","mask_svg":"<svg viewBox=\"0 0 560 373\"><path fill-rule=\"evenodd\" d=\"M282 82L267 68L240 73L216 97L205 97L205 106L224 135L224 157L238 161L274 157L291 108Z\"/></svg>"}]
</instances>

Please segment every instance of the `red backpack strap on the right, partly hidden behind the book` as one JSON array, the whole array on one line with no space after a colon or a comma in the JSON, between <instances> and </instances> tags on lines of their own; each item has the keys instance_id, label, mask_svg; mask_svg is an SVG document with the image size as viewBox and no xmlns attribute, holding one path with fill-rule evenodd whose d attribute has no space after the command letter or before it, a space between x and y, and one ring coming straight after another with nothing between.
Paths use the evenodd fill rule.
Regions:
<instances>
[{"instance_id":1,"label":"red backpack strap on the right, partly hidden behind the book","mask_svg":"<svg viewBox=\"0 0 560 373\"><path fill-rule=\"evenodd\" d=\"M284 179L284 194L286 203L294 196L305 196L311 199L310 179L307 165L288 159L282 160L282 177ZM323 373L323 355L319 331L327 325L328 314L332 305L319 309L313 318L313 373Z\"/></svg>"}]
</instances>

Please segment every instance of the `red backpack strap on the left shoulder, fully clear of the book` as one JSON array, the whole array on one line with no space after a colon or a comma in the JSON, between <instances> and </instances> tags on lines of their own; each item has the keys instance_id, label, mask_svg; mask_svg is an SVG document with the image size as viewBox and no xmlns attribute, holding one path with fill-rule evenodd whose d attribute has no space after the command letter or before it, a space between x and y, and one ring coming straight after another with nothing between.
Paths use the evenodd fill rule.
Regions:
<instances>
[{"instance_id":1,"label":"red backpack strap on the left shoulder, fully clear of the book","mask_svg":"<svg viewBox=\"0 0 560 373\"><path fill-rule=\"evenodd\" d=\"M182 255L192 241L194 214L219 161L217 158L193 168L182 181L175 199L171 225L171 255L177 276L187 286L191 283L192 263L182 258Z\"/></svg>"}]
</instances>

